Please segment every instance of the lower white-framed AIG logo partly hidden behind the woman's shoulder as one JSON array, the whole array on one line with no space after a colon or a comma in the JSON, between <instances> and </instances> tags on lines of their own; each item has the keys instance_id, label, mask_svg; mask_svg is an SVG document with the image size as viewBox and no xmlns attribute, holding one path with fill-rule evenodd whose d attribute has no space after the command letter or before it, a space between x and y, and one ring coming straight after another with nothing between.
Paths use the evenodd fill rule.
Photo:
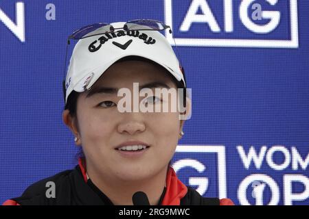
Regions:
<instances>
[{"instance_id":1,"label":"lower white-framed AIG logo partly hidden behind the woman's shoulder","mask_svg":"<svg viewBox=\"0 0 309 219\"><path fill-rule=\"evenodd\" d=\"M202 159L196 159L200 156L207 157L207 165L201 162ZM195 188L202 196L227 197L225 146L177 146L172 167L183 183Z\"/></svg>"}]
</instances>

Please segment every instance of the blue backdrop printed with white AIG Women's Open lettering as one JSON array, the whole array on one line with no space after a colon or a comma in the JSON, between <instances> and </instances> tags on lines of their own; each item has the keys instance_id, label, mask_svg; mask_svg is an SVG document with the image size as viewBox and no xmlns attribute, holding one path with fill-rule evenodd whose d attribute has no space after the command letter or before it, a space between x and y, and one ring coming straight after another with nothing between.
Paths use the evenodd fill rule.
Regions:
<instances>
[{"instance_id":1,"label":"blue backdrop printed with white AIG Women's Open lettering","mask_svg":"<svg viewBox=\"0 0 309 219\"><path fill-rule=\"evenodd\" d=\"M306 0L0 1L0 203L76 165L61 118L67 36L151 18L172 26L192 88L181 180L236 204L308 205L308 11Z\"/></svg>"}]
</instances>

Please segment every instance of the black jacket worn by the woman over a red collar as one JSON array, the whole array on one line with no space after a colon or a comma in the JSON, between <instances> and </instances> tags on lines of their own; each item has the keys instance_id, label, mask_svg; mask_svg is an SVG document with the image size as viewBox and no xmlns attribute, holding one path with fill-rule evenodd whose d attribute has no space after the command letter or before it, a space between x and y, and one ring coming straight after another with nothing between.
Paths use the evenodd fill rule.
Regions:
<instances>
[{"instance_id":1,"label":"black jacket worn by the woman over a red collar","mask_svg":"<svg viewBox=\"0 0 309 219\"><path fill-rule=\"evenodd\" d=\"M47 198L47 182L56 185L56 197ZM159 203L165 196L163 190ZM113 205L89 179L84 181L80 166L66 170L52 177L38 181L28 187L22 196L7 201L7 205ZM180 205L220 205L219 198L204 198L193 188L187 187L187 194L181 198Z\"/></svg>"}]
</instances>

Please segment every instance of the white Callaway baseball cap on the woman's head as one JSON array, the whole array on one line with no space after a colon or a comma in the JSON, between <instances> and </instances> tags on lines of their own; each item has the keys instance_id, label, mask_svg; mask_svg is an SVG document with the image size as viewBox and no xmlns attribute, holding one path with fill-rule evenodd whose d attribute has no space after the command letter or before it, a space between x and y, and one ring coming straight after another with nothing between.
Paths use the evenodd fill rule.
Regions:
<instances>
[{"instance_id":1,"label":"white Callaway baseball cap on the woman's head","mask_svg":"<svg viewBox=\"0 0 309 219\"><path fill-rule=\"evenodd\" d=\"M111 23L115 29L122 29L124 22ZM103 31L105 32L105 31ZM73 49L69 70L65 80L65 103L73 90L89 90L105 70L127 56L139 56L156 62L170 72L177 81L185 79L179 60L168 40L159 31L117 30L108 34L102 30L91 31L89 37L78 40Z\"/></svg>"}]
</instances>

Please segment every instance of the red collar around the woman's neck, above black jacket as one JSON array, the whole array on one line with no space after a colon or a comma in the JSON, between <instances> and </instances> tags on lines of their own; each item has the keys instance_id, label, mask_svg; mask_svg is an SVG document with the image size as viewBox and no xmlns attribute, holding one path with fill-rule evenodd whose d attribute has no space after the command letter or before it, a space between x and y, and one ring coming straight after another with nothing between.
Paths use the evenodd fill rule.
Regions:
<instances>
[{"instance_id":1,"label":"red collar around the woman's neck, above black jacket","mask_svg":"<svg viewBox=\"0 0 309 219\"><path fill-rule=\"evenodd\" d=\"M79 158L78 165L82 171L84 181L87 182L86 163L84 159ZM166 192L161 205L180 205L181 198L183 198L185 194L187 194L187 186L178 179L176 172L170 166L168 168L168 174L166 175Z\"/></svg>"}]
</instances>

